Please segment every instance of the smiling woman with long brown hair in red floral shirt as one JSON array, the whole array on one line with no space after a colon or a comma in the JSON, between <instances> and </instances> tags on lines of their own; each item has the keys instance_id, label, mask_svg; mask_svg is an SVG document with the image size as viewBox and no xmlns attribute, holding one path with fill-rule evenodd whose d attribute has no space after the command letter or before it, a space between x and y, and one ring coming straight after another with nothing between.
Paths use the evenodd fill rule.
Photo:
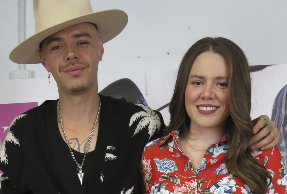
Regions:
<instances>
[{"instance_id":1,"label":"smiling woman with long brown hair in red floral shirt","mask_svg":"<svg viewBox=\"0 0 287 194\"><path fill-rule=\"evenodd\" d=\"M178 70L169 134L144 148L143 192L286 193L278 148L250 153L250 109L243 51L221 37L197 41Z\"/></svg>"}]
</instances>

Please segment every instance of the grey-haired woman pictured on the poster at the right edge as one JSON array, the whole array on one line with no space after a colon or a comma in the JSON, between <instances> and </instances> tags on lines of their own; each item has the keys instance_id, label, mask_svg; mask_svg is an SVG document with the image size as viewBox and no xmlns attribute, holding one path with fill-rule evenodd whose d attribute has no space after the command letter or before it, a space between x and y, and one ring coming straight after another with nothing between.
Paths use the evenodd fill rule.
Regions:
<instances>
[{"instance_id":1,"label":"grey-haired woman pictured on the poster at the right edge","mask_svg":"<svg viewBox=\"0 0 287 194\"><path fill-rule=\"evenodd\" d=\"M272 120L278 126L279 133L282 135L278 148L282 154L283 161L287 162L287 85L284 86L277 94L273 110Z\"/></svg>"}]
</instances>

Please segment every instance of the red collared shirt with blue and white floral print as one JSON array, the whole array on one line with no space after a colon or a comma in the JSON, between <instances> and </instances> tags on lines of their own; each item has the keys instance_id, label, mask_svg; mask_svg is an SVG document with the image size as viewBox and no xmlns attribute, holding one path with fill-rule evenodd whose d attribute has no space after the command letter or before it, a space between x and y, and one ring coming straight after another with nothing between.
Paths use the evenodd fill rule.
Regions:
<instances>
[{"instance_id":1,"label":"red collared shirt with blue and white floral print","mask_svg":"<svg viewBox=\"0 0 287 194\"><path fill-rule=\"evenodd\" d=\"M200 166L195 170L189 157L179 148L178 130L146 144L141 161L143 193L251 194L248 185L226 168L224 157L227 149L226 137L223 137L206 150ZM265 165L273 177L266 193L287 193L286 169L277 146L251 154Z\"/></svg>"}]
</instances>

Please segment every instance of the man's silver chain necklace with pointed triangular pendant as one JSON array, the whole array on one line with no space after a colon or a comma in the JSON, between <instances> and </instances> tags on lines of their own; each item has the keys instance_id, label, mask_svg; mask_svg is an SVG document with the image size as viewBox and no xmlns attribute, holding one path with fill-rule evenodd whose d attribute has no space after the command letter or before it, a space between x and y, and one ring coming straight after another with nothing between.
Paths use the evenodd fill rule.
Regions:
<instances>
[{"instance_id":1,"label":"man's silver chain necklace with pointed triangular pendant","mask_svg":"<svg viewBox=\"0 0 287 194\"><path fill-rule=\"evenodd\" d=\"M68 142L68 139L67 139L67 136L66 136L64 127L63 127L62 116L61 116L61 113L60 113L60 100L58 100L58 104L57 104L57 105L58 105L59 120L60 120L60 124L61 124L61 128L62 128L62 132L63 132L63 135L64 135L64 137L65 137L65 140L66 140L66 143L67 143L67 145L68 145L68 148L69 148L69 150L70 150L70 153L71 153L71 155L72 155L72 157L73 157L73 160L74 160L75 163L77 164L77 171L78 171L77 174L78 174L79 180L80 180L80 182L81 182L81 185L83 185L83 177L84 177L84 173L83 173L82 168L83 168L83 165L84 165L84 162L85 162L85 159L86 159L86 155L87 155L87 153L88 153L88 150L89 150L89 147L90 147L90 144L91 144L91 140L92 140L92 137L93 137L94 129L95 129L95 127L96 127L97 120L98 120L98 116L99 116L99 113L100 113L100 110L101 110L101 99L100 99L100 96L99 96L99 95L98 95L98 97L99 97L99 110L98 110L97 117L96 117L96 120L95 120L94 125L93 125L93 128L92 128L92 131L91 131L91 133L90 133L90 137L89 137L89 139L88 139L87 146L86 146L86 148L85 148L85 154L84 154L84 158L83 158L82 164L79 164L79 163L77 162L77 160L76 160L76 158L75 158L75 156L74 156L74 153L73 153L73 151L72 151L72 148L71 148L71 146L70 146L70 144L69 144L69 142Z\"/></svg>"}]
</instances>

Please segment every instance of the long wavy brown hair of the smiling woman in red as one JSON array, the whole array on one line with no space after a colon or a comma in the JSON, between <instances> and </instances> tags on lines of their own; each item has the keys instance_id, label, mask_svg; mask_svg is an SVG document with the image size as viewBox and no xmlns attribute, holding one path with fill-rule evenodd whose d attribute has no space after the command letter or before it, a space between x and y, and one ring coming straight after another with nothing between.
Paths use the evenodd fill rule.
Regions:
<instances>
[{"instance_id":1,"label":"long wavy brown hair of the smiling woman in red","mask_svg":"<svg viewBox=\"0 0 287 194\"><path fill-rule=\"evenodd\" d=\"M226 121L229 134L225 163L230 172L244 181L256 194L265 194L267 181L272 179L264 165L255 159L248 147L252 136L251 79L244 52L232 41L217 37L197 41L184 55L178 69L174 93L170 102L170 124L165 132L179 129L189 134L190 118L185 110L185 88L196 57L203 52L220 54L229 69L228 100L230 116Z\"/></svg>"}]
</instances>

